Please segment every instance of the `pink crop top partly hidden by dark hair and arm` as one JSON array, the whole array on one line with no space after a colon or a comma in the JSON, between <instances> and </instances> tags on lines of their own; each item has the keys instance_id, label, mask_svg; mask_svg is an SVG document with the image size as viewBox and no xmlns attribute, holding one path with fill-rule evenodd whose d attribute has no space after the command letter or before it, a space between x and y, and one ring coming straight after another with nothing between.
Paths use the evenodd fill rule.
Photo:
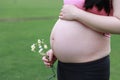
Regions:
<instances>
[{"instance_id":1,"label":"pink crop top partly hidden by dark hair and arm","mask_svg":"<svg viewBox=\"0 0 120 80\"><path fill-rule=\"evenodd\" d=\"M72 4L75 5L76 7L80 8L80 9L84 9L84 2L85 0L64 0L64 4ZM97 15L104 15L107 16L106 12L104 11L104 9L102 9L101 11L98 11L98 9L96 7L93 7L92 9L88 9L88 12L97 14ZM113 11L111 11L110 16L112 16ZM104 36L106 37L110 37L109 33L102 33Z\"/></svg>"}]
</instances>

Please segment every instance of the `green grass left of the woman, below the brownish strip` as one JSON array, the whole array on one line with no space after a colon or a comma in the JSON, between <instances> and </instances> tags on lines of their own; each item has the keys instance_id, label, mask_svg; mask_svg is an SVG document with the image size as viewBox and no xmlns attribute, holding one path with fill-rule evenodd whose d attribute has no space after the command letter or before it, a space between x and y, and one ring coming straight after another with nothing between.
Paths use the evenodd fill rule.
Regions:
<instances>
[{"instance_id":1,"label":"green grass left of the woman, below the brownish strip","mask_svg":"<svg viewBox=\"0 0 120 80\"><path fill-rule=\"evenodd\" d=\"M52 21L0 23L0 80L46 80L51 74L30 46L38 38L49 43ZM41 25L44 25L41 27Z\"/></svg>"}]
</instances>

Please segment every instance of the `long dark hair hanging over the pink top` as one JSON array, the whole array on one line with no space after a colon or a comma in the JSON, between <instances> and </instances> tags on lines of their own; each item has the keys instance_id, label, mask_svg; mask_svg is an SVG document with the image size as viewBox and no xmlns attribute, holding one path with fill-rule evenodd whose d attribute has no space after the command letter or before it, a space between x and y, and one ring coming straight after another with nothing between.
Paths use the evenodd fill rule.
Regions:
<instances>
[{"instance_id":1,"label":"long dark hair hanging over the pink top","mask_svg":"<svg viewBox=\"0 0 120 80\"><path fill-rule=\"evenodd\" d=\"M84 7L86 10L92 9L94 6L98 8L99 11L102 9L109 15L112 8L112 0L85 0Z\"/></svg>"}]
</instances>

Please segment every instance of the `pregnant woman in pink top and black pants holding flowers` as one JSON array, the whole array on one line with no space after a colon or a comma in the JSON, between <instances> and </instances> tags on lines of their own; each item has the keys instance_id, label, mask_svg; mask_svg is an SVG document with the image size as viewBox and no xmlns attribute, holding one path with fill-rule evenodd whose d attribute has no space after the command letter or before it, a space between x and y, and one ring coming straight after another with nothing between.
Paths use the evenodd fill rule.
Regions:
<instances>
[{"instance_id":1,"label":"pregnant woman in pink top and black pants holding flowers","mask_svg":"<svg viewBox=\"0 0 120 80\"><path fill-rule=\"evenodd\" d=\"M46 66L58 80L109 80L110 33L120 33L120 0L64 0Z\"/></svg>"}]
</instances>

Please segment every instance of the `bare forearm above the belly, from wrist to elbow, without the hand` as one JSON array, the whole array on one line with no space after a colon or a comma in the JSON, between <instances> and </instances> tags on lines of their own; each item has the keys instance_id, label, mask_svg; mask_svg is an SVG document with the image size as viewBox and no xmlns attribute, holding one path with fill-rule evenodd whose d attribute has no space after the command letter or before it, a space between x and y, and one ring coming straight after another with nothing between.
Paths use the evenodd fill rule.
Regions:
<instances>
[{"instance_id":1,"label":"bare forearm above the belly, from wrist to elbow, without the hand","mask_svg":"<svg viewBox=\"0 0 120 80\"><path fill-rule=\"evenodd\" d=\"M75 19L99 32L120 34L120 19L114 16L95 15L83 10L77 10Z\"/></svg>"}]
</instances>

